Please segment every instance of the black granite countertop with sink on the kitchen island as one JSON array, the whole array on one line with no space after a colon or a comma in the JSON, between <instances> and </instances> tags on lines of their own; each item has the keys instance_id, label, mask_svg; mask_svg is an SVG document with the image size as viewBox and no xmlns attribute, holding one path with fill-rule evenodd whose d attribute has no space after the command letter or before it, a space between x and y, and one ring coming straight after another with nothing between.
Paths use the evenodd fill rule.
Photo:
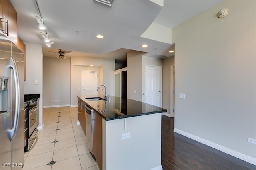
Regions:
<instances>
[{"instance_id":1,"label":"black granite countertop with sink on the kitchen island","mask_svg":"<svg viewBox=\"0 0 256 170\"><path fill-rule=\"evenodd\" d=\"M98 97L104 99L104 96ZM89 105L94 111L99 113L100 116L103 117L103 119L105 119L106 121L167 112L166 109L140 101L114 96L108 97L110 97L110 101L108 99L89 101L87 99L82 99L81 96L78 96L79 99L82 99L82 101Z\"/></svg>"}]
</instances>

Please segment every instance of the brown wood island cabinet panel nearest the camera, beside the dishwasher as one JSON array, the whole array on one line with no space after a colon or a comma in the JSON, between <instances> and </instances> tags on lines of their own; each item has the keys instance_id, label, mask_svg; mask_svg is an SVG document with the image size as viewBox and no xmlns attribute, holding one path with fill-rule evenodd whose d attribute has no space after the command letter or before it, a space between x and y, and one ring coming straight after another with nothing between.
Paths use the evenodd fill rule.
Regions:
<instances>
[{"instance_id":1,"label":"brown wood island cabinet panel nearest the camera, beside the dishwasher","mask_svg":"<svg viewBox=\"0 0 256 170\"><path fill-rule=\"evenodd\" d=\"M92 151L100 170L102 170L102 117L98 113L94 112L92 115L92 121Z\"/></svg>"}]
</instances>

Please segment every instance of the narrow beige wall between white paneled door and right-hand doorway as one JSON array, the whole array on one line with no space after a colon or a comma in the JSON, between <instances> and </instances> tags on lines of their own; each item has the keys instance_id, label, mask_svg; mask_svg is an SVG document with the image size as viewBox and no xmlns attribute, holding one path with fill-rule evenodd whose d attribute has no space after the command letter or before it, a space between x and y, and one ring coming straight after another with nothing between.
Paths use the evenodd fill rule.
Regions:
<instances>
[{"instance_id":1,"label":"narrow beige wall between white paneled door and right-hand doorway","mask_svg":"<svg viewBox=\"0 0 256 170\"><path fill-rule=\"evenodd\" d=\"M163 101L162 107L167 109L168 114L171 113L171 65L174 65L174 56L162 59L163 63Z\"/></svg>"}]
</instances>

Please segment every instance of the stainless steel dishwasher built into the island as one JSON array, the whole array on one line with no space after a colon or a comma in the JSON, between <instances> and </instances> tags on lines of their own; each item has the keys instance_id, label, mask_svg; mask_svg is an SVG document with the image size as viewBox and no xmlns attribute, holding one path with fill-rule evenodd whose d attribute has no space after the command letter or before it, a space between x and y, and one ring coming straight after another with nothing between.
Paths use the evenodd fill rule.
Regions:
<instances>
[{"instance_id":1,"label":"stainless steel dishwasher built into the island","mask_svg":"<svg viewBox=\"0 0 256 170\"><path fill-rule=\"evenodd\" d=\"M92 141L93 141L93 121L92 121L92 115L93 115L93 109L91 109L88 105L85 105L85 122L86 122L86 139L88 141L88 148L94 157L94 154L92 152Z\"/></svg>"}]
</instances>

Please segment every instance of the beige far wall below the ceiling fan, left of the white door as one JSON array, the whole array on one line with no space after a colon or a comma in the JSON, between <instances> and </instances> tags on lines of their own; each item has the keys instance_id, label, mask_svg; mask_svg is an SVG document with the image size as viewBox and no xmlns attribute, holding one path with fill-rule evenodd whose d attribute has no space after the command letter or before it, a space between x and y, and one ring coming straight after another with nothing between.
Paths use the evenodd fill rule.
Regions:
<instances>
[{"instance_id":1,"label":"beige far wall below the ceiling fan, left of the white door","mask_svg":"<svg viewBox=\"0 0 256 170\"><path fill-rule=\"evenodd\" d=\"M43 58L44 107L70 106L70 58Z\"/></svg>"}]
</instances>

